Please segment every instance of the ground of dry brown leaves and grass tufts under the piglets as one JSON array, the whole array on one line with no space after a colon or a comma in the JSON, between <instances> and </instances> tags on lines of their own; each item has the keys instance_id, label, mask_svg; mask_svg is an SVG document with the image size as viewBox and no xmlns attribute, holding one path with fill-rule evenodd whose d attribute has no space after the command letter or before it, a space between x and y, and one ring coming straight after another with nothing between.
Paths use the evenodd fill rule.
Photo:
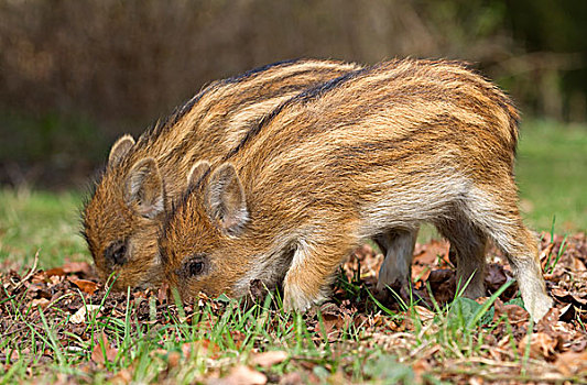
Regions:
<instances>
[{"instance_id":1,"label":"ground of dry brown leaves and grass tufts under the piglets","mask_svg":"<svg viewBox=\"0 0 587 385\"><path fill-rule=\"evenodd\" d=\"M305 315L280 294L238 301L173 290L112 293L86 262L0 266L2 383L587 383L587 239L542 234L554 308L534 324L491 250L488 297L457 295L448 244L414 254L412 300L377 300L369 245L331 299ZM4 264L7 265L7 264ZM405 293L404 293L405 296ZM410 296L410 294L409 294Z\"/></svg>"}]
</instances>

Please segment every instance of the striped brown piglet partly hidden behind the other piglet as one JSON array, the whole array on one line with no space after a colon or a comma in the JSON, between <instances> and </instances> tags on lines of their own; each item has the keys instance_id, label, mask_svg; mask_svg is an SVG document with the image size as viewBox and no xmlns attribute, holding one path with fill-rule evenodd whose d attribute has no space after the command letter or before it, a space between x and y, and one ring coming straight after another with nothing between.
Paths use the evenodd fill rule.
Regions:
<instances>
[{"instance_id":1,"label":"striped brown piglet partly hidden behind the other piglet","mask_svg":"<svg viewBox=\"0 0 587 385\"><path fill-rule=\"evenodd\" d=\"M159 285L157 229L194 162L220 158L282 101L357 68L312 59L261 67L213 82L137 143L117 141L83 213L100 277L116 273L118 289Z\"/></svg>"}]
</instances>

